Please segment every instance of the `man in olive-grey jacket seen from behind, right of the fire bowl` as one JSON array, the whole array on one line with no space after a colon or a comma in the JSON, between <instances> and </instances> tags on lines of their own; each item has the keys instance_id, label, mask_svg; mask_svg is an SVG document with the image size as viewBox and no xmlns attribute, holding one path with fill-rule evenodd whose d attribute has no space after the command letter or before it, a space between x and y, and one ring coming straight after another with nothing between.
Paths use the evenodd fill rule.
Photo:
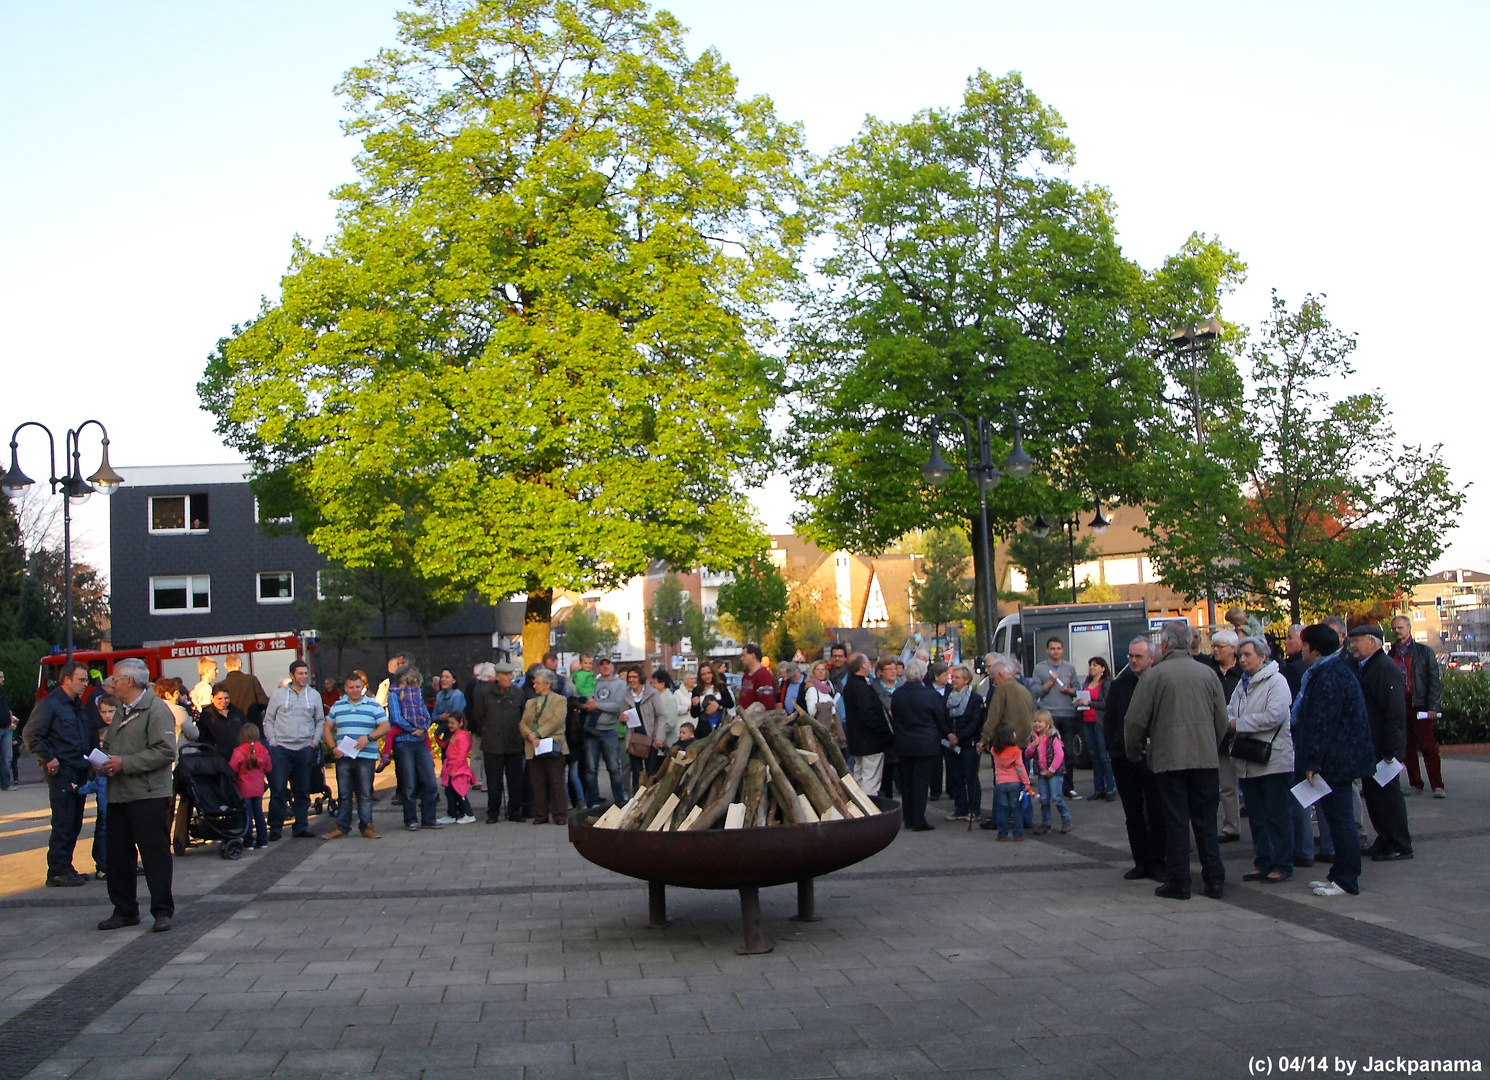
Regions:
<instances>
[{"instance_id":1,"label":"man in olive-grey jacket seen from behind, right of the fire bowl","mask_svg":"<svg viewBox=\"0 0 1490 1080\"><path fill-rule=\"evenodd\" d=\"M1170 620L1159 633L1159 661L1138 679L1123 722L1131 761L1147 760L1164 801L1164 885L1170 900L1191 898L1191 837L1199 848L1205 895L1220 900L1216 812L1220 804L1217 748L1226 734L1226 694L1220 679L1191 660L1191 624Z\"/></svg>"}]
</instances>

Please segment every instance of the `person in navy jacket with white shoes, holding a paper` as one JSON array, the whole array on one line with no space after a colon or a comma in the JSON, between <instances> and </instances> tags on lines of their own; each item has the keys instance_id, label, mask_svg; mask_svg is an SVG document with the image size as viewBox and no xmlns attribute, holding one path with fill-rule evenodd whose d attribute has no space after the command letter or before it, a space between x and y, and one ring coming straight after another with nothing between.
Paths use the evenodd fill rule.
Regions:
<instances>
[{"instance_id":1,"label":"person in navy jacket with white shoes, holding a paper","mask_svg":"<svg viewBox=\"0 0 1490 1080\"><path fill-rule=\"evenodd\" d=\"M1360 837L1351 806L1351 784L1371 773L1371 727L1360 682L1341 660L1340 635L1323 623L1301 635L1308 669L1293 702L1293 755L1305 782L1329 785L1317 800L1320 821L1335 839L1335 861L1323 880L1310 882L1316 895L1360 892Z\"/></svg>"}]
</instances>

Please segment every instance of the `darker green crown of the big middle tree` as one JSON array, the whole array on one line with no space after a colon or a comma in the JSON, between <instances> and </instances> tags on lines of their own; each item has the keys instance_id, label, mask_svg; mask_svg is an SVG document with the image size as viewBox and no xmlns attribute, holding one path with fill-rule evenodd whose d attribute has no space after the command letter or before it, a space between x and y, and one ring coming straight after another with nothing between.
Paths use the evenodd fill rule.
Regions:
<instances>
[{"instance_id":1,"label":"darker green crown of the big middle tree","mask_svg":"<svg viewBox=\"0 0 1490 1080\"><path fill-rule=\"evenodd\" d=\"M821 168L834 247L822 288L800 296L788 383L800 530L879 551L974 520L963 469L939 487L919 478L931 419L949 408L989 417L1001 460L1003 408L1018 405L1039 472L989 493L998 532L1073 509L1092 486L1144 495L1144 454L1174 426L1152 353L1216 311L1243 267L1192 237L1146 274L1122 253L1109 192L1067 179L1073 159L1059 113L1018 73L977 72L960 107L870 118ZM963 428L942 432L955 462Z\"/></svg>"}]
</instances>

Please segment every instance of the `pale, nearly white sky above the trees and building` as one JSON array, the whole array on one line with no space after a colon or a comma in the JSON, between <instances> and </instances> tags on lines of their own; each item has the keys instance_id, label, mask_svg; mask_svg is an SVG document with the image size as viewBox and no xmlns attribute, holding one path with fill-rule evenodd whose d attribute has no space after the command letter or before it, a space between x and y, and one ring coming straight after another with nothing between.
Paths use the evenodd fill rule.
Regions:
<instances>
[{"instance_id":1,"label":"pale, nearly white sky above the trees and building","mask_svg":"<svg viewBox=\"0 0 1490 1080\"><path fill-rule=\"evenodd\" d=\"M291 237L334 228L352 176L341 73L393 43L386 0L0 0L0 426L109 425L116 465L232 460L197 405L218 337L273 296ZM1065 118L1077 177L1110 188L1128 253L1191 231L1250 265L1226 305L1328 293L1356 387L1401 438L1484 459L1490 4L682 0L746 94L815 150L866 113L960 100L1024 72ZM22 465L45 474L25 436ZM92 468L95 448L85 454ZM784 480L760 499L785 529ZM106 509L80 511L103 559ZM1442 566L1490 569L1490 492Z\"/></svg>"}]
</instances>

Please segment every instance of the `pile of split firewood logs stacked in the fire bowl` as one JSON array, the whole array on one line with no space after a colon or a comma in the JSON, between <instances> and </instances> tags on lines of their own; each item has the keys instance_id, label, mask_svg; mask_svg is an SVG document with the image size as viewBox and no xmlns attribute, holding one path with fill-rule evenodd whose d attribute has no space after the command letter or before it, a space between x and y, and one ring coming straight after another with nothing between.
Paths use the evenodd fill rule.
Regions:
<instances>
[{"instance_id":1,"label":"pile of split firewood logs stacked in the fire bowl","mask_svg":"<svg viewBox=\"0 0 1490 1080\"><path fill-rule=\"evenodd\" d=\"M833 736L800 709L752 705L663 766L596 828L650 831L751 828L879 813L849 775Z\"/></svg>"}]
</instances>

